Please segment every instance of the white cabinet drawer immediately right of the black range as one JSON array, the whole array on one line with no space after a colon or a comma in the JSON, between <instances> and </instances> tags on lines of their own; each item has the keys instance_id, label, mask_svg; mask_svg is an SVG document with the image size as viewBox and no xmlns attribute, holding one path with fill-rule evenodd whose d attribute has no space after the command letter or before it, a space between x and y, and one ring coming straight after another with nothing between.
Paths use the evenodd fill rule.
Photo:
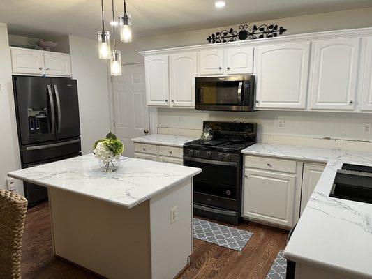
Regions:
<instances>
[{"instance_id":1,"label":"white cabinet drawer immediately right of the black range","mask_svg":"<svg viewBox=\"0 0 372 279\"><path fill-rule=\"evenodd\" d=\"M254 169L266 169L276 172L290 172L292 174L296 173L296 162L291 160L246 156L245 166Z\"/></svg>"}]
</instances>

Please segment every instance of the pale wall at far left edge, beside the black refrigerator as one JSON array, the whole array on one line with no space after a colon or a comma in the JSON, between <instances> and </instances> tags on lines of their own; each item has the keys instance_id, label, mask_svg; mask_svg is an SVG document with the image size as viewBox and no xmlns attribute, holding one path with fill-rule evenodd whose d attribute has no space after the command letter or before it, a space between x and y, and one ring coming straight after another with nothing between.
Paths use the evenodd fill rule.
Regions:
<instances>
[{"instance_id":1,"label":"pale wall at far left edge, beside the black refrigerator","mask_svg":"<svg viewBox=\"0 0 372 279\"><path fill-rule=\"evenodd\" d=\"M0 188L6 188L6 174L20 169L17 124L12 84L12 63L8 45L8 29L0 23ZM17 183L17 193L23 194L22 183Z\"/></svg>"}]
</instances>

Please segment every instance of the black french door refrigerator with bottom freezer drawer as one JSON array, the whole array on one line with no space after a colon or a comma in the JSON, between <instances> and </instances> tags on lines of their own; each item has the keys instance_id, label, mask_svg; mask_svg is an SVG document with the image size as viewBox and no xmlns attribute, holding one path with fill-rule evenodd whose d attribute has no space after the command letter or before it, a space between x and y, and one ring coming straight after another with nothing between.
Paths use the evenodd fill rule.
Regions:
<instances>
[{"instance_id":1,"label":"black french door refrigerator with bottom freezer drawer","mask_svg":"<svg viewBox=\"0 0 372 279\"><path fill-rule=\"evenodd\" d=\"M13 75L22 168L81 155L77 82L68 78ZM33 206L47 188L24 182Z\"/></svg>"}]
</instances>

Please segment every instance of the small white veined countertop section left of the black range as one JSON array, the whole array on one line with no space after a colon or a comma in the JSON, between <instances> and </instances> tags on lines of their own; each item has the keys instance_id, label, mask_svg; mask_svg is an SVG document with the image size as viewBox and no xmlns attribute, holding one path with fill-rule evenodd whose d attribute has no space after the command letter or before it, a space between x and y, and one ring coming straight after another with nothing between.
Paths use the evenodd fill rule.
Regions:
<instances>
[{"instance_id":1,"label":"small white veined countertop section left of the black range","mask_svg":"<svg viewBox=\"0 0 372 279\"><path fill-rule=\"evenodd\" d=\"M160 144L168 146L182 147L184 143L197 140L197 137L185 137L183 135L162 135L151 134L144 135L143 137L135 137L133 142L140 142L142 144Z\"/></svg>"}]
</instances>

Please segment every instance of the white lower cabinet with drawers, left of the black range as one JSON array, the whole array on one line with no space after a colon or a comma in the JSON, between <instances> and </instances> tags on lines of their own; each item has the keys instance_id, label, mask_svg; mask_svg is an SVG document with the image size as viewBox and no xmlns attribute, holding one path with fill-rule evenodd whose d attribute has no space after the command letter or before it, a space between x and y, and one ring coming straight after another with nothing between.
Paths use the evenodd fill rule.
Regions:
<instances>
[{"instance_id":1,"label":"white lower cabinet with drawers, left of the black range","mask_svg":"<svg viewBox=\"0 0 372 279\"><path fill-rule=\"evenodd\" d=\"M138 159L172 163L176 165L183 165L184 163L182 147L135 142L134 150L134 157Z\"/></svg>"}]
</instances>

